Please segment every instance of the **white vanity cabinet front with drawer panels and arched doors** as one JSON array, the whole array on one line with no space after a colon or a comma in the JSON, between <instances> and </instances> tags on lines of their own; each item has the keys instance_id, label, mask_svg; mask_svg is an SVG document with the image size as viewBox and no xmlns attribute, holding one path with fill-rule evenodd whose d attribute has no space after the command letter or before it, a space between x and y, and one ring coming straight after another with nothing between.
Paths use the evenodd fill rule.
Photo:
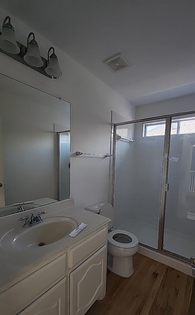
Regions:
<instances>
[{"instance_id":1,"label":"white vanity cabinet front with drawer panels and arched doors","mask_svg":"<svg viewBox=\"0 0 195 315\"><path fill-rule=\"evenodd\" d=\"M106 290L107 224L42 261L0 293L2 315L84 315Z\"/></svg>"}]
</instances>

